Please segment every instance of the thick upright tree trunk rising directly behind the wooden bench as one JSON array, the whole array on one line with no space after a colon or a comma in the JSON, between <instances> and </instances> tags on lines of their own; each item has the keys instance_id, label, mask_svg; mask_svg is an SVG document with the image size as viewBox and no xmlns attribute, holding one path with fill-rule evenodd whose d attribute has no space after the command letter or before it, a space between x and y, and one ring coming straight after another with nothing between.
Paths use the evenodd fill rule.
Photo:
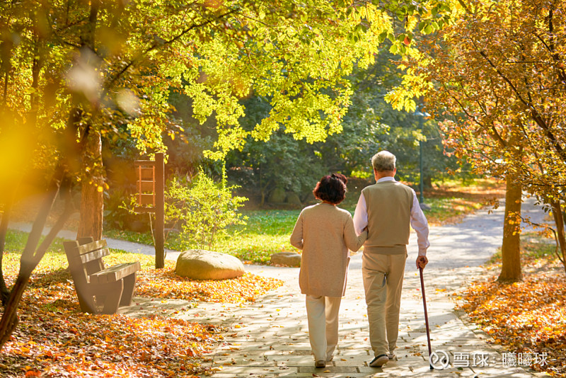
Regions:
<instances>
[{"instance_id":1,"label":"thick upright tree trunk rising directly behind the wooden bench","mask_svg":"<svg viewBox=\"0 0 566 378\"><path fill-rule=\"evenodd\" d=\"M100 132L90 130L83 150L83 172L90 175L81 183L81 218L77 238L92 236L95 241L102 239L104 210L102 140Z\"/></svg>"}]
</instances>

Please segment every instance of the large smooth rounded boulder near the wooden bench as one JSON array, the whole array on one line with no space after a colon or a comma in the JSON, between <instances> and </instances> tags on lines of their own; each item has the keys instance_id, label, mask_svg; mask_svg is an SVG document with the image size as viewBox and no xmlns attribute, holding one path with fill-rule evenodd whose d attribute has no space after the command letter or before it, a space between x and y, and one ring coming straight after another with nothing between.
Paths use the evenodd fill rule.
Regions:
<instances>
[{"instance_id":1,"label":"large smooth rounded boulder near the wooden bench","mask_svg":"<svg viewBox=\"0 0 566 378\"><path fill-rule=\"evenodd\" d=\"M179 255L175 273L192 280L226 280L243 275L243 263L226 253L190 249Z\"/></svg>"}]
</instances>

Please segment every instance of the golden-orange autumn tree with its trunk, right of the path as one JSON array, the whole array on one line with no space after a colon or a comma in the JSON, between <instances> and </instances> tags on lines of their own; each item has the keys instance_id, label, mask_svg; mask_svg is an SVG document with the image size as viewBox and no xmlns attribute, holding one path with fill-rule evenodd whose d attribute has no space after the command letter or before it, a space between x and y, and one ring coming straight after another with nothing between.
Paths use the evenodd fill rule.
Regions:
<instances>
[{"instance_id":1,"label":"golden-orange autumn tree with its trunk, right of the path","mask_svg":"<svg viewBox=\"0 0 566 378\"><path fill-rule=\"evenodd\" d=\"M565 6L560 1L454 1L451 23L417 41L406 83L476 171L507 181L499 280L520 280L521 190L548 204L566 258ZM427 32L427 30L423 30ZM401 105L405 89L390 94ZM566 264L565 264L566 268Z\"/></svg>"}]
</instances>

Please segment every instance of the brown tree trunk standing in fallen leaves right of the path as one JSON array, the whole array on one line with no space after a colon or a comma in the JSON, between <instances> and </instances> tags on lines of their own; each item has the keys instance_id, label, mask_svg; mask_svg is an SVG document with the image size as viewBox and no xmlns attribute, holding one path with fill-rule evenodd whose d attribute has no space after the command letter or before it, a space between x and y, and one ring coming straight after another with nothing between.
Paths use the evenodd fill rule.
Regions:
<instances>
[{"instance_id":1,"label":"brown tree trunk standing in fallen leaves right of the path","mask_svg":"<svg viewBox=\"0 0 566 378\"><path fill-rule=\"evenodd\" d=\"M499 282L521 281L521 195L522 185L507 176L505 192L505 219L503 224L503 241L501 246L502 266L497 280Z\"/></svg>"}]
</instances>

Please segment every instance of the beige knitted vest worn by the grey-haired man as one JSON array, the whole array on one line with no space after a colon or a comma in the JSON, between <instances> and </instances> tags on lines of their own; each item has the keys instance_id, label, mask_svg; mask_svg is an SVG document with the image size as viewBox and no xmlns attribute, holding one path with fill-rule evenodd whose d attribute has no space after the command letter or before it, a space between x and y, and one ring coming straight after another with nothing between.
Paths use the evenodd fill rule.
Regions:
<instances>
[{"instance_id":1,"label":"beige knitted vest worn by the grey-haired man","mask_svg":"<svg viewBox=\"0 0 566 378\"><path fill-rule=\"evenodd\" d=\"M364 253L406 253L414 192L407 185L385 181L362 190L369 234Z\"/></svg>"}]
</instances>

